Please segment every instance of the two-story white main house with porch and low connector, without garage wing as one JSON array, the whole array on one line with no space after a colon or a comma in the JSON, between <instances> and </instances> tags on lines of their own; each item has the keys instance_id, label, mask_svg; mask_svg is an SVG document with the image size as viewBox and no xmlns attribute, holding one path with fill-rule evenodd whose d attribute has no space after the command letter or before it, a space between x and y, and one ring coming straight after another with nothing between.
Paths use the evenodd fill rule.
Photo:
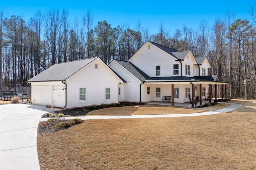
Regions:
<instances>
[{"instance_id":1,"label":"two-story white main house with porch and low connector, without garage wing","mask_svg":"<svg viewBox=\"0 0 256 170\"><path fill-rule=\"evenodd\" d=\"M192 102L193 107L196 97L200 105L202 99L212 98L212 84L222 84L222 89L227 84L217 76L208 76L207 57L194 57L190 50L177 51L149 41L129 61L113 60L109 67L126 80L119 86L120 101L164 99L172 105Z\"/></svg>"}]
</instances>

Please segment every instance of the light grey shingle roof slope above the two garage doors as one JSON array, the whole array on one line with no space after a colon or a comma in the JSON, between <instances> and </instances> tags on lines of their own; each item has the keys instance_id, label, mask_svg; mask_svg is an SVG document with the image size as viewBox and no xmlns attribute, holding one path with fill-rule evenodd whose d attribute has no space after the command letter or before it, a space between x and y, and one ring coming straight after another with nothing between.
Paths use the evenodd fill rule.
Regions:
<instances>
[{"instance_id":1,"label":"light grey shingle roof slope above the two garage doors","mask_svg":"<svg viewBox=\"0 0 256 170\"><path fill-rule=\"evenodd\" d=\"M78 70L91 63L96 58L97 57L54 64L40 74L34 76L33 78L30 78L27 82L66 80L67 78L78 72Z\"/></svg>"}]
</instances>

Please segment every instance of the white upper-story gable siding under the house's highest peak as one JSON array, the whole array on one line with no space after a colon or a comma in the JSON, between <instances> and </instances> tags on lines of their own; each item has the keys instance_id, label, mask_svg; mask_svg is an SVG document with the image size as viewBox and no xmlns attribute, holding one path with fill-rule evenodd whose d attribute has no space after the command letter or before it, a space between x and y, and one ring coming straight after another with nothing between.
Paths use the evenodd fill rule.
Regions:
<instances>
[{"instance_id":1,"label":"white upper-story gable siding under the house's highest peak","mask_svg":"<svg viewBox=\"0 0 256 170\"><path fill-rule=\"evenodd\" d=\"M157 77L156 66L160 66L160 77L168 77L180 76L180 62L175 60L154 45L146 43L129 61L150 77ZM178 75L173 75L173 64L179 64Z\"/></svg>"}]
</instances>

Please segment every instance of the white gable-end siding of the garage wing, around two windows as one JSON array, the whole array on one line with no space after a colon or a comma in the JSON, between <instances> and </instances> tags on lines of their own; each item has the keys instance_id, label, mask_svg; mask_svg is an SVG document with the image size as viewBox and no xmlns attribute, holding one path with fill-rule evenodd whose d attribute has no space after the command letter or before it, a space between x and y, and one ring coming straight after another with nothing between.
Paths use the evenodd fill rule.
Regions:
<instances>
[{"instance_id":1,"label":"white gable-end siding of the garage wing, around two windows","mask_svg":"<svg viewBox=\"0 0 256 170\"><path fill-rule=\"evenodd\" d=\"M98 64L98 68L95 68ZM118 77L100 60L96 59L67 80L67 108L118 103ZM79 89L86 88L86 101L80 102ZM110 99L106 100L106 88Z\"/></svg>"}]
</instances>

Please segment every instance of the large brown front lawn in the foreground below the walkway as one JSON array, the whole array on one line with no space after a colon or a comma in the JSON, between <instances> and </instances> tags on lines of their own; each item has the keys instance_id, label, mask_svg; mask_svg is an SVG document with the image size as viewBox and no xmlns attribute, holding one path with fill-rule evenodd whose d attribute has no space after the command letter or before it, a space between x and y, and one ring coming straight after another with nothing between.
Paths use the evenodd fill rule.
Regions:
<instances>
[{"instance_id":1,"label":"large brown front lawn in the foreground below the walkway","mask_svg":"<svg viewBox=\"0 0 256 170\"><path fill-rule=\"evenodd\" d=\"M256 169L256 113L88 120L38 136L44 169Z\"/></svg>"}]
</instances>

